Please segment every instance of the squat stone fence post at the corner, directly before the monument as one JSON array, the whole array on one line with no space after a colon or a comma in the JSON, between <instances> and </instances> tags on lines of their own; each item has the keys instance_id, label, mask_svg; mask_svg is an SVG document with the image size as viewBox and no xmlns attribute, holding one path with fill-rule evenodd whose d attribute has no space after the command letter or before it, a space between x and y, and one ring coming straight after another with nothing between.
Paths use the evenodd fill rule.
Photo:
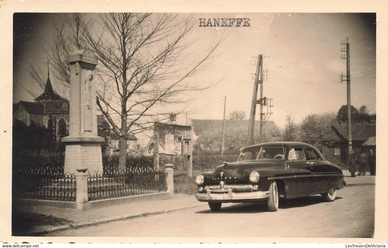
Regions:
<instances>
[{"instance_id":1,"label":"squat stone fence post at the corner, directly before the monument","mask_svg":"<svg viewBox=\"0 0 388 248\"><path fill-rule=\"evenodd\" d=\"M76 209L87 210L88 198L88 169L77 169L76 173Z\"/></svg>"}]
</instances>

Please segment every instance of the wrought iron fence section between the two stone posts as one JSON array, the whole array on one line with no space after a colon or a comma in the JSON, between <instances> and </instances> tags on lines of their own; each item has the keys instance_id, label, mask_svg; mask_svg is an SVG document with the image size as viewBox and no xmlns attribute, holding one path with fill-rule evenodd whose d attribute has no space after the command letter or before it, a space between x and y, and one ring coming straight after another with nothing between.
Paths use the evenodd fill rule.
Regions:
<instances>
[{"instance_id":1,"label":"wrought iron fence section between the two stone posts","mask_svg":"<svg viewBox=\"0 0 388 248\"><path fill-rule=\"evenodd\" d=\"M104 173L88 176L89 201L118 198L167 190L164 168L129 167L125 170L109 168Z\"/></svg>"}]
</instances>

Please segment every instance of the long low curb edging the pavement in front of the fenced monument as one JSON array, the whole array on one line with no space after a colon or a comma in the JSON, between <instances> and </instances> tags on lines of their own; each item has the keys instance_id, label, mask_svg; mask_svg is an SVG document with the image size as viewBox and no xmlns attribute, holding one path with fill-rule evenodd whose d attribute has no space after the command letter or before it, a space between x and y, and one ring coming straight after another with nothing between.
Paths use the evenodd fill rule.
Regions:
<instances>
[{"instance_id":1,"label":"long low curb edging the pavement in front of the fenced monument","mask_svg":"<svg viewBox=\"0 0 388 248\"><path fill-rule=\"evenodd\" d=\"M138 218L138 217L147 217L147 216L151 216L151 215L158 215L161 213L170 213L170 212L174 212L177 210L182 210L182 209L186 209L186 208L195 208L197 206L203 206L203 205L204 205L204 203L197 203L197 204L193 204L190 206L170 208L170 209L155 211L155 212L131 213L128 215L116 215L113 217L107 217L107 218L99 219L99 220L88 220L85 222L76 222L76 223L66 224L66 225L58 225L58 226L43 227L43 228L41 227L41 229L39 229L39 227L38 227L38 228L36 228L36 230L33 230L31 232L27 232L26 234L29 234L31 236L37 236L40 234L48 234L50 232L59 232L59 231L64 231L64 230L68 230L68 229L77 229L77 228L81 228L81 227L88 227L91 225L106 224L106 223L114 222L114 221L118 221L118 220L127 220L127 219L134 219L134 218Z\"/></svg>"}]
</instances>

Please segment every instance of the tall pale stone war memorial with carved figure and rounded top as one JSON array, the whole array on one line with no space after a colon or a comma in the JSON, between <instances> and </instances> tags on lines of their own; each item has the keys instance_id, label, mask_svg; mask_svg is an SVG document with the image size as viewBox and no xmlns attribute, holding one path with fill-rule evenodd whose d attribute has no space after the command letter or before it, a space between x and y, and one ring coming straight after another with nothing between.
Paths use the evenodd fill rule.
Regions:
<instances>
[{"instance_id":1,"label":"tall pale stone war memorial with carved figure and rounded top","mask_svg":"<svg viewBox=\"0 0 388 248\"><path fill-rule=\"evenodd\" d=\"M97 57L84 49L69 56L70 106L69 136L63 137L66 146L64 172L102 174L101 144L97 136L95 67Z\"/></svg>"}]
</instances>

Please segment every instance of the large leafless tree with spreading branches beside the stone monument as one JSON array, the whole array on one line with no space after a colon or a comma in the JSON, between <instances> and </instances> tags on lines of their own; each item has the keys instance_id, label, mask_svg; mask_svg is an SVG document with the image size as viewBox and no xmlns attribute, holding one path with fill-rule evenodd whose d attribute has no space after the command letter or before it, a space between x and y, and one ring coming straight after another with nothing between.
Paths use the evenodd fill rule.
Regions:
<instances>
[{"instance_id":1,"label":"large leafless tree with spreading branches beside the stone monument","mask_svg":"<svg viewBox=\"0 0 388 248\"><path fill-rule=\"evenodd\" d=\"M206 68L223 38L202 54L194 51L189 34L195 21L163 13L78 14L56 26L50 50L58 79L68 82L72 50L90 48L99 59L97 106L119 137L121 168L127 137L165 119L171 104L187 102L183 92L211 86L188 78Z\"/></svg>"}]
</instances>

